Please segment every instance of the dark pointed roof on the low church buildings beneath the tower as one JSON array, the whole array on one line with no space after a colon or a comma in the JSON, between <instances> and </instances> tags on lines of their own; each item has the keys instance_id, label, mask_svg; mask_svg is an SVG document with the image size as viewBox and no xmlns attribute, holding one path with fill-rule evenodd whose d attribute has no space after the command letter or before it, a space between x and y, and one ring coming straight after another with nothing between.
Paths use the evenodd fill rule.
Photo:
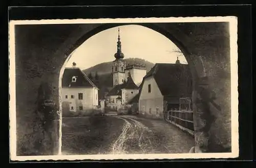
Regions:
<instances>
[{"instance_id":1,"label":"dark pointed roof on the low church buildings beneath the tower","mask_svg":"<svg viewBox=\"0 0 256 168\"><path fill-rule=\"evenodd\" d=\"M125 83L114 86L108 95L121 95L121 89L139 89L139 87L134 83L132 77L129 76Z\"/></svg>"}]
</instances>

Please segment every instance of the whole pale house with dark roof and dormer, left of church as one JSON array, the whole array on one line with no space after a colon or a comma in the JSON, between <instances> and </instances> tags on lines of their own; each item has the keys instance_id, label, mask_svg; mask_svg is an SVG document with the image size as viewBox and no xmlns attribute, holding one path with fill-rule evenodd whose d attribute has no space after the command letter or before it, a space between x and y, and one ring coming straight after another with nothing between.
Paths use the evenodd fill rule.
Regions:
<instances>
[{"instance_id":1,"label":"whole pale house with dark roof and dormer, left of church","mask_svg":"<svg viewBox=\"0 0 256 168\"><path fill-rule=\"evenodd\" d=\"M98 106L98 88L80 68L65 68L61 81L62 106L69 111L86 111Z\"/></svg>"}]
</instances>

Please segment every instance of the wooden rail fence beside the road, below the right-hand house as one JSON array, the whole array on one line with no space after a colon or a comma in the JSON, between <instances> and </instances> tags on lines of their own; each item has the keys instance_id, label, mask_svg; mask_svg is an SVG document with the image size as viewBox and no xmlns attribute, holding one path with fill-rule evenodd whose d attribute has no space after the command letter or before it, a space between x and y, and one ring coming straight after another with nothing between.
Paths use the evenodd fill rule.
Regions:
<instances>
[{"instance_id":1,"label":"wooden rail fence beside the road, below the right-hand house","mask_svg":"<svg viewBox=\"0 0 256 168\"><path fill-rule=\"evenodd\" d=\"M193 111L169 110L165 112L165 120L194 135Z\"/></svg>"}]
</instances>

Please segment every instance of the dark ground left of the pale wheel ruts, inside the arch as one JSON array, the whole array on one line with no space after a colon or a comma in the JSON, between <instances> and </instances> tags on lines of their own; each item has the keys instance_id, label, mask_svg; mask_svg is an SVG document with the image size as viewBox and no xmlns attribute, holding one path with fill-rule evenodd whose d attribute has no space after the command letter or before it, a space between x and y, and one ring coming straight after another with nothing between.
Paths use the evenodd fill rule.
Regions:
<instances>
[{"instance_id":1,"label":"dark ground left of the pale wheel ruts, inside the arch","mask_svg":"<svg viewBox=\"0 0 256 168\"><path fill-rule=\"evenodd\" d=\"M66 154L104 154L121 133L123 121L107 116L63 117L62 151Z\"/></svg>"}]
</instances>

